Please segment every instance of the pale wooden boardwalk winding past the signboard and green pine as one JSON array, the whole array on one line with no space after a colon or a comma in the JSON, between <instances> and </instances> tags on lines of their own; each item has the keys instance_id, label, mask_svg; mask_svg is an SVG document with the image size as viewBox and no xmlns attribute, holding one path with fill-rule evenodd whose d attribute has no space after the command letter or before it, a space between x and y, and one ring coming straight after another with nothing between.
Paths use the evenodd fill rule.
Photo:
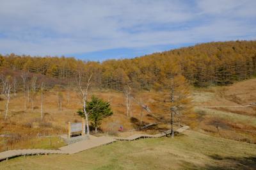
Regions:
<instances>
[{"instance_id":1,"label":"pale wooden boardwalk winding past the signboard and green pine","mask_svg":"<svg viewBox=\"0 0 256 170\"><path fill-rule=\"evenodd\" d=\"M184 130L187 130L189 127L184 126L176 130L176 132L182 133ZM79 141L77 143L68 144L67 146L63 146L59 148L59 150L40 150L40 149L31 149L31 150L9 150L3 151L0 153L0 161L8 160L8 158L18 157L22 155L47 155L47 154L74 154L80 151L88 150L90 148L95 148L97 146L102 146L105 144L110 144L115 142L116 140L120 141L133 141L135 139L140 138L157 138L163 137L167 134L171 134L172 130L166 130L165 132L156 134L156 135L148 135L148 134L135 134L129 137L94 137L90 135L90 139Z\"/></svg>"}]
</instances>

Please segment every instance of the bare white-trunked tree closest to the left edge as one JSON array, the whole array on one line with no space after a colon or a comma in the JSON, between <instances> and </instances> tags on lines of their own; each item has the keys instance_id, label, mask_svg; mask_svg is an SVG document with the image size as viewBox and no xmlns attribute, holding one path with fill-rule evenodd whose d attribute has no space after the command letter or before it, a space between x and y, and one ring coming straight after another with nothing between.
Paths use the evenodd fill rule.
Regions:
<instances>
[{"instance_id":1,"label":"bare white-trunked tree closest to the left edge","mask_svg":"<svg viewBox=\"0 0 256 170\"><path fill-rule=\"evenodd\" d=\"M7 114L8 114L8 108L9 108L8 106L9 106L9 102L10 102L10 93L11 93L11 89L12 89L12 82L11 82L10 76L4 77L4 75L1 75L1 79L2 79L2 86L3 86L3 94L4 94L4 97L6 98L5 116L4 116L4 120L6 120Z\"/></svg>"}]
</instances>

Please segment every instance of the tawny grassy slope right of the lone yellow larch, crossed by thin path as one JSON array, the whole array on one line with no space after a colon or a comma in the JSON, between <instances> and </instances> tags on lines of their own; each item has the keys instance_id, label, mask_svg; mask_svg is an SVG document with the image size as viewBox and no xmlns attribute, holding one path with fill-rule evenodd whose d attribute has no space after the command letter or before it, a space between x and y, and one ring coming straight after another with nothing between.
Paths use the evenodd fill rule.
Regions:
<instances>
[{"instance_id":1,"label":"tawny grassy slope right of the lone yellow larch, crossed by thin path","mask_svg":"<svg viewBox=\"0 0 256 170\"><path fill-rule=\"evenodd\" d=\"M198 106L248 105L256 102L256 79L237 82L231 86L196 89L193 98ZM195 107L195 112L196 121L191 120L190 123L198 122L194 126L196 130L216 137L256 144L256 108Z\"/></svg>"}]
</instances>

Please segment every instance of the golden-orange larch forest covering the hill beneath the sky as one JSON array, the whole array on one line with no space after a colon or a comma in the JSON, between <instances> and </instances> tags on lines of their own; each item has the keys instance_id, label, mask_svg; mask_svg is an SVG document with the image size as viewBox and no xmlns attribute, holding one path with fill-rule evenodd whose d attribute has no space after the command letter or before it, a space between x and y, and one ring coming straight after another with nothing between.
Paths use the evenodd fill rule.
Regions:
<instances>
[{"instance_id":1,"label":"golden-orange larch forest covering the hill beneath the sky","mask_svg":"<svg viewBox=\"0 0 256 170\"><path fill-rule=\"evenodd\" d=\"M133 59L109 59L102 63L74 58L0 56L1 72L31 72L55 80L73 79L77 69L93 73L95 86L122 89L163 88L163 77L182 73L194 86L225 85L256 75L256 41L211 42ZM64 83L65 81L58 81Z\"/></svg>"}]
</instances>

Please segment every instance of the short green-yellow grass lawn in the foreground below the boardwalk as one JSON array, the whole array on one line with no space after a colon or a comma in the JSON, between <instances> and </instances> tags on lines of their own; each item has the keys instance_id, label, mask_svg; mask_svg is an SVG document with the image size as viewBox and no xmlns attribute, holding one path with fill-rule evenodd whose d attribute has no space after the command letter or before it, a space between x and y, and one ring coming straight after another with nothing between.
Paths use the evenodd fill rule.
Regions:
<instances>
[{"instance_id":1,"label":"short green-yellow grass lawn in the foreground below the boardwalk","mask_svg":"<svg viewBox=\"0 0 256 170\"><path fill-rule=\"evenodd\" d=\"M256 145L188 130L184 135L118 141L74 155L0 162L0 169L255 169Z\"/></svg>"}]
</instances>

